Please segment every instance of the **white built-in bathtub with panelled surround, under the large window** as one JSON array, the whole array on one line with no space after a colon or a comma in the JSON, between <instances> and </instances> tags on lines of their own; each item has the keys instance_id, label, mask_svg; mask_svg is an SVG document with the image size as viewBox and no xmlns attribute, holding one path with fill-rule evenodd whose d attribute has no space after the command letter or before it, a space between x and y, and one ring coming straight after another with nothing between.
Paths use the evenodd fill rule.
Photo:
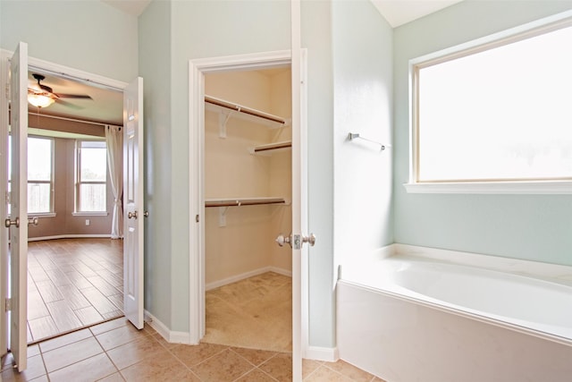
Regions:
<instances>
[{"instance_id":1,"label":"white built-in bathtub with panelled surround, under the large window","mask_svg":"<svg viewBox=\"0 0 572 382\"><path fill-rule=\"evenodd\" d=\"M341 359L389 382L572 381L571 267L395 248L341 267Z\"/></svg>"}]
</instances>

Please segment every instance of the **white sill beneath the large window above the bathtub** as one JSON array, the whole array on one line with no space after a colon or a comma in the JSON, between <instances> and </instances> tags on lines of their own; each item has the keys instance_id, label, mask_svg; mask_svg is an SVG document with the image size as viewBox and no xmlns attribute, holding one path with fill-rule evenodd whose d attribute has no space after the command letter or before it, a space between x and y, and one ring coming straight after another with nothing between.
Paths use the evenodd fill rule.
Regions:
<instances>
[{"instance_id":1,"label":"white sill beneath the large window above the bathtub","mask_svg":"<svg viewBox=\"0 0 572 382\"><path fill-rule=\"evenodd\" d=\"M405 183L408 193L572 194L572 181Z\"/></svg>"}]
</instances>

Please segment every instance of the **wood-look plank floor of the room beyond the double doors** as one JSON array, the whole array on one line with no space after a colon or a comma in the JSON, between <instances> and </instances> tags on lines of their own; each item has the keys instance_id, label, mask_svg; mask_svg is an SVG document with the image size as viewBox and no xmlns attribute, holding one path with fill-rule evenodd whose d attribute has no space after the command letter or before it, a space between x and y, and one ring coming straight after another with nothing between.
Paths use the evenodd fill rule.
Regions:
<instances>
[{"instance_id":1,"label":"wood-look plank floor of the room beyond the double doors","mask_svg":"<svg viewBox=\"0 0 572 382\"><path fill-rule=\"evenodd\" d=\"M123 241L28 243L28 343L123 315Z\"/></svg>"}]
</instances>

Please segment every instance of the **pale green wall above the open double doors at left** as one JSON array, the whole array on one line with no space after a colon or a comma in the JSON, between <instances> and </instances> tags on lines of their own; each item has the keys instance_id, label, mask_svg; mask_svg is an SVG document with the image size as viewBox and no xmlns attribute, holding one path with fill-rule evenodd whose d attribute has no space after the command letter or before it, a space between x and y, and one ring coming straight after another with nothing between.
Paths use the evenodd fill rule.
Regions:
<instances>
[{"instance_id":1,"label":"pale green wall above the open double doors at left","mask_svg":"<svg viewBox=\"0 0 572 382\"><path fill-rule=\"evenodd\" d=\"M1 47L20 41L51 63L131 81L137 76L137 17L99 0L2 0Z\"/></svg>"}]
</instances>

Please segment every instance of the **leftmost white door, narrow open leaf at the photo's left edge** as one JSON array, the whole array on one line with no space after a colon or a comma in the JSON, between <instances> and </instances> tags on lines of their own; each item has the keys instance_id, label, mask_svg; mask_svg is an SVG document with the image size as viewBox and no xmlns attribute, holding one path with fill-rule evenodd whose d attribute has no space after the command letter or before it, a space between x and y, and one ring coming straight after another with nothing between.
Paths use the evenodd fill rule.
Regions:
<instances>
[{"instance_id":1,"label":"leftmost white door, narrow open leaf at the photo's left edge","mask_svg":"<svg viewBox=\"0 0 572 382\"><path fill-rule=\"evenodd\" d=\"M18 370L27 366L28 314L28 44L20 43L10 65L12 174L10 218L10 349Z\"/></svg>"}]
</instances>

